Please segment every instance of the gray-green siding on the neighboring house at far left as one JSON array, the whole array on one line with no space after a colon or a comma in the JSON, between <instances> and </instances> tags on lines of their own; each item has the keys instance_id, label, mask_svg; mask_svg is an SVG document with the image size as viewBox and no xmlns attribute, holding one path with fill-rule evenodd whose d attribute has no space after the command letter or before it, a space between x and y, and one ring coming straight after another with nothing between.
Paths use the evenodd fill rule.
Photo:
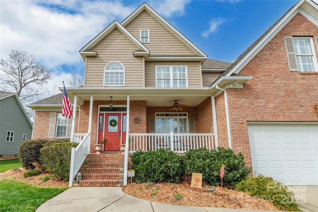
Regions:
<instances>
[{"instance_id":1,"label":"gray-green siding on the neighboring house at far left","mask_svg":"<svg viewBox=\"0 0 318 212\"><path fill-rule=\"evenodd\" d=\"M14 132L13 142L6 140L7 131ZM14 96L0 100L0 155L17 154L22 143L32 137L32 127Z\"/></svg>"}]
</instances>

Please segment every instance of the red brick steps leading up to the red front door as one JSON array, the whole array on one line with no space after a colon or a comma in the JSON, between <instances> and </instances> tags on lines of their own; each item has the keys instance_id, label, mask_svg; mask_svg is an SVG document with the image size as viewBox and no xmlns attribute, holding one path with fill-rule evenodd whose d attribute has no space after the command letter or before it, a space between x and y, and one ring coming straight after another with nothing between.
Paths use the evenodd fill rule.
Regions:
<instances>
[{"instance_id":1,"label":"red brick steps leading up to the red front door","mask_svg":"<svg viewBox=\"0 0 318 212\"><path fill-rule=\"evenodd\" d=\"M73 186L123 186L124 155L120 151L89 154L79 172L81 180L74 181Z\"/></svg>"}]
</instances>

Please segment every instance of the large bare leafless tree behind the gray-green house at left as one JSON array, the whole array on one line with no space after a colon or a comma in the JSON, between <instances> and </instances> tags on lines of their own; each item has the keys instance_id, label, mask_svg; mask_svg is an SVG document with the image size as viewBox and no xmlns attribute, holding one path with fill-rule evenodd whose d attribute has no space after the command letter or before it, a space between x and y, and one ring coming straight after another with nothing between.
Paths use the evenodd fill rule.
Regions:
<instances>
[{"instance_id":1,"label":"large bare leafless tree behind the gray-green house at left","mask_svg":"<svg viewBox=\"0 0 318 212\"><path fill-rule=\"evenodd\" d=\"M31 102L43 97L41 86L51 78L50 70L44 68L34 55L12 50L6 60L0 61L0 89L17 93L22 102Z\"/></svg>"}]
</instances>

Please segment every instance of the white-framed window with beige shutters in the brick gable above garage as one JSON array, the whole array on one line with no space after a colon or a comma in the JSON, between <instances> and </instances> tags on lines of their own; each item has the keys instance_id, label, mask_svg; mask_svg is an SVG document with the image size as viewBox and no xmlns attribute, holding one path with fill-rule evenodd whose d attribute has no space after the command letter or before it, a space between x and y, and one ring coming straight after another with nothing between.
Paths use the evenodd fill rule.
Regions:
<instances>
[{"instance_id":1,"label":"white-framed window with beige shutters in the brick gable above garage","mask_svg":"<svg viewBox=\"0 0 318 212\"><path fill-rule=\"evenodd\" d=\"M298 71L318 71L315 70L315 51L311 37L294 37L294 50ZM317 66L317 61L316 61Z\"/></svg>"}]
</instances>

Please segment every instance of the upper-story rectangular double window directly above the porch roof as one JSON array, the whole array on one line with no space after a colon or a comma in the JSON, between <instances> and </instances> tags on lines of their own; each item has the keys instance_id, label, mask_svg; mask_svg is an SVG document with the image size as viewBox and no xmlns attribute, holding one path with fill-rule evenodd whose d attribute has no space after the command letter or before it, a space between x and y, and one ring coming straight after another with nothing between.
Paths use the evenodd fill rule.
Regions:
<instances>
[{"instance_id":1,"label":"upper-story rectangular double window directly above the porch roof","mask_svg":"<svg viewBox=\"0 0 318 212\"><path fill-rule=\"evenodd\" d=\"M186 66L156 66L156 87L188 87Z\"/></svg>"}]
</instances>

